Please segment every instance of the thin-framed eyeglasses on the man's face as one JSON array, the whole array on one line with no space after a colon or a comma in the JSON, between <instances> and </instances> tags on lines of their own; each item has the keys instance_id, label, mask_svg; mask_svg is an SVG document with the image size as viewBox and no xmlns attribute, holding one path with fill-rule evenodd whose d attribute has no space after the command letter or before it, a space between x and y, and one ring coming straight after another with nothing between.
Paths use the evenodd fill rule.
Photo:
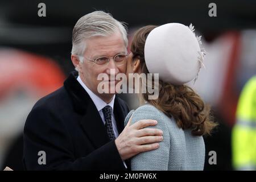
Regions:
<instances>
[{"instance_id":1,"label":"thin-framed eyeglasses on the man's face","mask_svg":"<svg viewBox=\"0 0 256 182\"><path fill-rule=\"evenodd\" d=\"M128 56L127 53L119 53L118 55L115 55L114 57L101 56L101 57L98 57L97 59L94 59L94 60L85 57L85 59L93 61L94 63L96 63L100 67L105 67L109 64L110 59L113 58L113 60L115 61L115 65L121 66L121 65L126 63L127 56Z\"/></svg>"}]
</instances>

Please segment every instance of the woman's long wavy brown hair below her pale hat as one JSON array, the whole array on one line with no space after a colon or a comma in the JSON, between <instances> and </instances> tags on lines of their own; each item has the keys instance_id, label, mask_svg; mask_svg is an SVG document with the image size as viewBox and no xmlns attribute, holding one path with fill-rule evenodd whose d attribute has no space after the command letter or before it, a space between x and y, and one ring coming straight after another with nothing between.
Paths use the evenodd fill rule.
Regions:
<instances>
[{"instance_id":1,"label":"woman's long wavy brown hair below her pale hat","mask_svg":"<svg viewBox=\"0 0 256 182\"><path fill-rule=\"evenodd\" d=\"M144 45L147 35L157 26L145 26L135 32L131 43L133 61L140 60L142 73L148 73L144 60ZM187 85L172 85L159 80L159 97L156 100L148 100L150 94L142 93L141 98L157 109L163 111L168 117L173 117L177 126L191 129L192 135L201 136L210 134L217 126L212 121L210 106L196 92Z\"/></svg>"}]
</instances>

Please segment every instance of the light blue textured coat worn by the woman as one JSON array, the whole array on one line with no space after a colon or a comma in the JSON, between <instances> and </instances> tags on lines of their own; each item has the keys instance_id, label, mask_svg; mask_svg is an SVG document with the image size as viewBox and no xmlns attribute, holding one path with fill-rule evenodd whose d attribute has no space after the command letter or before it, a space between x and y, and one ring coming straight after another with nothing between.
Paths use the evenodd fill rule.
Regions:
<instances>
[{"instance_id":1,"label":"light blue textured coat worn by the woman","mask_svg":"<svg viewBox=\"0 0 256 182\"><path fill-rule=\"evenodd\" d=\"M173 118L167 117L156 107L146 104L131 110L125 125L133 114L131 123L141 119L155 119L156 128L163 131L163 141L156 150L142 152L131 158L131 170L203 170L205 145L203 137L191 135L191 130L177 127Z\"/></svg>"}]
</instances>

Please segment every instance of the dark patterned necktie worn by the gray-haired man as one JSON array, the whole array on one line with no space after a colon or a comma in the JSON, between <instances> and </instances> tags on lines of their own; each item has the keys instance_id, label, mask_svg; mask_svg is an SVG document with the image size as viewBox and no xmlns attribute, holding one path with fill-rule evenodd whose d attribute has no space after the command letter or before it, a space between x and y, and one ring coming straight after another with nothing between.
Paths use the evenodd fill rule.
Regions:
<instances>
[{"instance_id":1,"label":"dark patterned necktie worn by the gray-haired man","mask_svg":"<svg viewBox=\"0 0 256 182\"><path fill-rule=\"evenodd\" d=\"M105 127L106 127L106 131L108 133L109 139L113 140L115 139L115 135L114 135L114 130L113 130L113 126L112 126L112 107L110 106L105 106L103 109L103 115L105 118Z\"/></svg>"}]
</instances>

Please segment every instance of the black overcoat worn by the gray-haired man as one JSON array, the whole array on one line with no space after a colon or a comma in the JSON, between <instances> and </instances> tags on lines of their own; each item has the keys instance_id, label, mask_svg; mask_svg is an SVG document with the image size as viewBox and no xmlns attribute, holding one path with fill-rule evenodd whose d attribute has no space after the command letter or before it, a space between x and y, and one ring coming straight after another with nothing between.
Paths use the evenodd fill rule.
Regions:
<instances>
[{"instance_id":1,"label":"black overcoat worn by the gray-haired man","mask_svg":"<svg viewBox=\"0 0 256 182\"><path fill-rule=\"evenodd\" d=\"M126 169L96 106L76 78L77 72L72 72L63 87L36 102L28 115L24 126L25 169ZM119 134L128 112L127 104L116 96L114 115ZM39 151L46 152L46 164L38 163L42 156Z\"/></svg>"}]
</instances>

